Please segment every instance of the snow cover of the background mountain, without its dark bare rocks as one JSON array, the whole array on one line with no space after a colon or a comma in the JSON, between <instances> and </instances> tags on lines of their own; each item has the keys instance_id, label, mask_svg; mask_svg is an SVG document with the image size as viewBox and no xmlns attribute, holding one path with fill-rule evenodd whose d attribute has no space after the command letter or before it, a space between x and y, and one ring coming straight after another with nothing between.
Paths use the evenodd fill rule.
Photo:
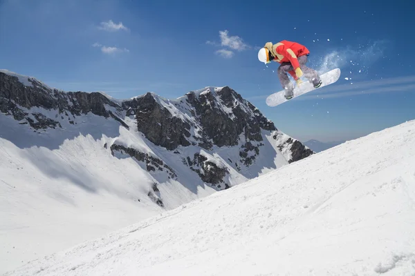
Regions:
<instances>
[{"instance_id":1,"label":"snow cover of the background mountain, without its dark bare rocks","mask_svg":"<svg viewBox=\"0 0 415 276\"><path fill-rule=\"evenodd\" d=\"M1 72L18 77L27 86L44 85L32 77ZM208 90L217 92L221 88L204 88L200 93ZM122 105L122 100L106 97ZM173 115L194 122L195 128L200 127L185 97L175 100L154 97ZM215 104L228 112L221 101ZM243 106L241 101L235 104ZM227 168L229 174L225 180L232 186L286 166L291 159L291 144L286 143L291 137L267 130L262 131L264 146L260 152L263 153L249 167L236 165L241 146L246 143L243 135L237 146L214 146L212 150L179 147L178 154L146 139L137 131L133 115L127 117L125 111L111 106L105 108L122 118L129 129L114 119L91 112L73 116L53 109L21 108L34 121L37 119L33 113L37 112L62 126L47 130L33 130L24 124L26 119L16 121L10 115L0 114L0 274L31 259L216 193L214 187L205 184L183 163L183 157L197 153L216 166ZM196 135L197 131L192 131ZM177 177L168 178L165 171L149 172L145 162L125 152L111 155L113 144L163 160ZM257 146L259 142L252 141L252 144ZM194 166L194 169L198 168ZM163 206L156 202L158 199Z\"/></svg>"}]
</instances>

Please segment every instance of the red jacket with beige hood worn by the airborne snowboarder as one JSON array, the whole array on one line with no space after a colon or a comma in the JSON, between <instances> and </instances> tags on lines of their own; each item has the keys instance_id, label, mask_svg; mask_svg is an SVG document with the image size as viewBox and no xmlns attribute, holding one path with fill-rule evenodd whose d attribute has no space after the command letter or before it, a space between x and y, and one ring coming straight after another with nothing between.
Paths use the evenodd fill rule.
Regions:
<instances>
[{"instance_id":1,"label":"red jacket with beige hood worn by the airborne snowboarder","mask_svg":"<svg viewBox=\"0 0 415 276\"><path fill-rule=\"evenodd\" d=\"M277 53L277 57L273 59L279 63L291 62L294 70L299 68L297 57L310 54L310 51L297 42L283 40L273 46L273 50Z\"/></svg>"}]
</instances>

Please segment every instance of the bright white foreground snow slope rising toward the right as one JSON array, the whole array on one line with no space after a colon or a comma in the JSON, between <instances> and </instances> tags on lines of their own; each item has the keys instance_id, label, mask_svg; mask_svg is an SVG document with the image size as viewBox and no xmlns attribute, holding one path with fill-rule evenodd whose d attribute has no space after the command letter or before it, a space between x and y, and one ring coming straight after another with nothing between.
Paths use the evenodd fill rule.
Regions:
<instances>
[{"instance_id":1,"label":"bright white foreground snow slope rising toward the right","mask_svg":"<svg viewBox=\"0 0 415 276\"><path fill-rule=\"evenodd\" d=\"M6 275L415 275L415 121Z\"/></svg>"}]
</instances>

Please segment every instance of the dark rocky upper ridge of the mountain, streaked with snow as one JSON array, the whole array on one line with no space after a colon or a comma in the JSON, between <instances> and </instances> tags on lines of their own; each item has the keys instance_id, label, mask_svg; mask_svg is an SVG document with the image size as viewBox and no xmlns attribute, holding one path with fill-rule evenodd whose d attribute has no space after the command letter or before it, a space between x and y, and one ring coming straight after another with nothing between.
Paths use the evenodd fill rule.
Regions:
<instances>
[{"instance_id":1,"label":"dark rocky upper ridge of the mountain, streaked with snow","mask_svg":"<svg viewBox=\"0 0 415 276\"><path fill-rule=\"evenodd\" d=\"M276 155L282 155L289 164L313 154L277 130L252 103L228 86L187 92L178 99L147 92L116 100L102 92L64 92L35 78L0 70L0 112L39 134L87 124L80 119L86 115L104 117L129 132L141 133L151 147L174 152L203 183L218 190L232 186L232 173L249 179L263 168L276 168ZM114 157L128 155L150 173L165 172L166 179L177 179L172 164L163 157L141 152L139 146L126 144L122 137L114 138L112 144L104 145ZM275 152L266 150L270 143ZM216 155L226 150L228 157Z\"/></svg>"}]
</instances>

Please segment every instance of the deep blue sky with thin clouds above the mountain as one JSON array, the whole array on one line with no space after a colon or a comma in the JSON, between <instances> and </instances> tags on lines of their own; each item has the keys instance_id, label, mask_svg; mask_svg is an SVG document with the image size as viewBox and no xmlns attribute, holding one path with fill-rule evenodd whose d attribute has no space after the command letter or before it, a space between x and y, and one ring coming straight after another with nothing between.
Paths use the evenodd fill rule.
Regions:
<instances>
[{"instance_id":1,"label":"deep blue sky with thin clouds above the mountain","mask_svg":"<svg viewBox=\"0 0 415 276\"><path fill-rule=\"evenodd\" d=\"M230 86L297 139L354 139L415 119L414 8L365 0L0 0L0 68L120 99ZM279 64L264 66L257 50L283 39L311 51L308 66L341 68L340 80L266 106L282 89Z\"/></svg>"}]
</instances>

